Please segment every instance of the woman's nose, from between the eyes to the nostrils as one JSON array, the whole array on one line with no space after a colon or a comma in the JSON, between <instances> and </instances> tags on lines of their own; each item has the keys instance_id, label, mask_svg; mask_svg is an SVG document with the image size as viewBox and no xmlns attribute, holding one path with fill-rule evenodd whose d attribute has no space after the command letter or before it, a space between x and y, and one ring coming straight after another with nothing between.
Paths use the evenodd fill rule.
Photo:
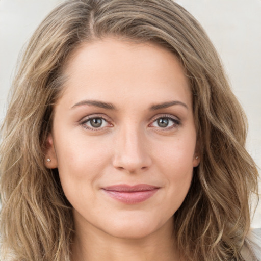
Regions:
<instances>
[{"instance_id":1,"label":"woman's nose, from between the eyes to the nostrils","mask_svg":"<svg viewBox=\"0 0 261 261\"><path fill-rule=\"evenodd\" d=\"M147 170L152 160L149 147L142 132L138 129L122 128L115 141L113 166L127 173Z\"/></svg>"}]
</instances>

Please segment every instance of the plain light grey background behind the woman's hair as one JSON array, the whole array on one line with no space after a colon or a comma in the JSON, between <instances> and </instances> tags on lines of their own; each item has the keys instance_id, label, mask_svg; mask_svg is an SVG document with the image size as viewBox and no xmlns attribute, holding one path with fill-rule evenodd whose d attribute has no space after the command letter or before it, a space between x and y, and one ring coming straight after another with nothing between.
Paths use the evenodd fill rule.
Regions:
<instances>
[{"instance_id":1,"label":"plain light grey background behind the woman's hair","mask_svg":"<svg viewBox=\"0 0 261 261\"><path fill-rule=\"evenodd\" d=\"M16 60L44 16L61 0L0 0L0 122ZM261 166L261 0L179 0L219 51L249 119L247 149ZM260 173L260 171L259 171ZM259 203L253 227L261 227Z\"/></svg>"}]
</instances>

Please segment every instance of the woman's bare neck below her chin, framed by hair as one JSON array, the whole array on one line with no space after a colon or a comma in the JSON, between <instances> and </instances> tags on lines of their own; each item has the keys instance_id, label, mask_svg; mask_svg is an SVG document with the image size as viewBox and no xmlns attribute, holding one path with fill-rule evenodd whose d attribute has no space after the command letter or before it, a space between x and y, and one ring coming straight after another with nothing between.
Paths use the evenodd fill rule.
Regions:
<instances>
[{"instance_id":1,"label":"woman's bare neck below her chin, framed by hair","mask_svg":"<svg viewBox=\"0 0 261 261\"><path fill-rule=\"evenodd\" d=\"M81 229L80 229L81 227ZM75 225L73 261L181 261L172 237L173 220L142 238L117 238L91 225Z\"/></svg>"}]
</instances>

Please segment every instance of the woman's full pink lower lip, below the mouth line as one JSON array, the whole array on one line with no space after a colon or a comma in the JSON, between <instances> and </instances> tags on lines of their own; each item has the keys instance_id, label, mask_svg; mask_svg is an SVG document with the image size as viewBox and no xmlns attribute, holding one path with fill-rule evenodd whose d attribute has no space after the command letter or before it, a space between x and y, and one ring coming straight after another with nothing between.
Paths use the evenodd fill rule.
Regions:
<instances>
[{"instance_id":1,"label":"woman's full pink lower lip, below the mouth line","mask_svg":"<svg viewBox=\"0 0 261 261\"><path fill-rule=\"evenodd\" d=\"M132 192L119 192L112 190L104 190L113 199L127 204L136 204L147 200L152 197L159 189L145 190L145 191L132 191Z\"/></svg>"}]
</instances>

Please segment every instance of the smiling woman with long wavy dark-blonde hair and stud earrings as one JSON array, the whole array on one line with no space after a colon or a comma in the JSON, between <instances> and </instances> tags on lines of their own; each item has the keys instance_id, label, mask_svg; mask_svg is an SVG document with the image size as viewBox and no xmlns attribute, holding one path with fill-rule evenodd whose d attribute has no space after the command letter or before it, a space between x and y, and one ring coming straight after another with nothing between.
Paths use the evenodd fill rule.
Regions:
<instances>
[{"instance_id":1,"label":"smiling woman with long wavy dark-blonde hair and stud earrings","mask_svg":"<svg viewBox=\"0 0 261 261\"><path fill-rule=\"evenodd\" d=\"M170 0L57 7L2 134L4 260L257 260L244 113Z\"/></svg>"}]
</instances>

